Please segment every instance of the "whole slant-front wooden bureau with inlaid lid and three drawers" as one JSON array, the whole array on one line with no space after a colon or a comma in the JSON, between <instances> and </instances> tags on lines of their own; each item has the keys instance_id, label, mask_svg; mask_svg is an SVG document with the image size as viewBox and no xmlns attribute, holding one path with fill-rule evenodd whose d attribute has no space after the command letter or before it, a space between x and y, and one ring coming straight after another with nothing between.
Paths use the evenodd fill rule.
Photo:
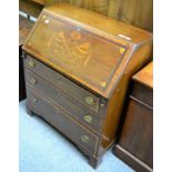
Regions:
<instances>
[{"instance_id":1,"label":"whole slant-front wooden bureau with inlaid lid and three drawers","mask_svg":"<svg viewBox=\"0 0 172 172\"><path fill-rule=\"evenodd\" d=\"M95 168L115 141L130 77L151 60L152 34L61 3L43 9L23 52L28 112Z\"/></svg>"}]
</instances>

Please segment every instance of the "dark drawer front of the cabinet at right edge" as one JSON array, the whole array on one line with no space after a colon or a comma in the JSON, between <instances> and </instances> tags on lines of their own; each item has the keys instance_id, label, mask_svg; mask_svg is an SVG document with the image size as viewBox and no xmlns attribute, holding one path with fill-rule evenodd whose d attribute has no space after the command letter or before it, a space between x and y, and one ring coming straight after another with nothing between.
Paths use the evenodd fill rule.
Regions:
<instances>
[{"instance_id":1,"label":"dark drawer front of the cabinet at right edge","mask_svg":"<svg viewBox=\"0 0 172 172\"><path fill-rule=\"evenodd\" d=\"M153 90L140 83L134 83L134 88L131 93L131 97L153 108Z\"/></svg>"}]
</instances>

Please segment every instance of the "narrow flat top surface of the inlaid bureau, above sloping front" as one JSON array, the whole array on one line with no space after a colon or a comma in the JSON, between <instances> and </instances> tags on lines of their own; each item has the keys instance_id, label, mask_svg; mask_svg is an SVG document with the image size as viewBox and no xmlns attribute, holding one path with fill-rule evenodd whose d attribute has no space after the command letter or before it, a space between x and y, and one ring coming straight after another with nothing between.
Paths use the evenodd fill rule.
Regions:
<instances>
[{"instance_id":1,"label":"narrow flat top surface of the inlaid bureau, above sloping front","mask_svg":"<svg viewBox=\"0 0 172 172\"><path fill-rule=\"evenodd\" d=\"M118 21L113 18L109 18L103 14L95 13L93 11L74 7L68 3L58 3L45 8L44 10L79 21L82 24L84 23L87 26L98 28L112 36L119 37L120 34L129 37L131 38L131 42L134 43L148 41L151 38L150 34L152 34L145 30Z\"/></svg>"}]
</instances>

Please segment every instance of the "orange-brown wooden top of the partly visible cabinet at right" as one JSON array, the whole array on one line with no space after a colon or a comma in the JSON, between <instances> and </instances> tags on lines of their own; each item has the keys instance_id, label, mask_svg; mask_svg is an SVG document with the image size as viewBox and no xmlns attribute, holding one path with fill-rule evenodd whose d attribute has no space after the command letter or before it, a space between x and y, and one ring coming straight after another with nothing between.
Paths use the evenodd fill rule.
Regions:
<instances>
[{"instance_id":1,"label":"orange-brown wooden top of the partly visible cabinet at right","mask_svg":"<svg viewBox=\"0 0 172 172\"><path fill-rule=\"evenodd\" d=\"M153 61L134 74L133 80L153 89Z\"/></svg>"}]
</instances>

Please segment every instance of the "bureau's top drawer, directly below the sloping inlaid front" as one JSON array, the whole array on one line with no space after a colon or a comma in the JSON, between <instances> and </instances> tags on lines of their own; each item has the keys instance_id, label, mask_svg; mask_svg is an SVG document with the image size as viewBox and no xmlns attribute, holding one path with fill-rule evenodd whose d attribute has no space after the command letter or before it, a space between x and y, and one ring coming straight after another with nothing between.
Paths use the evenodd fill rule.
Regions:
<instances>
[{"instance_id":1,"label":"bureau's top drawer, directly below the sloping inlaid front","mask_svg":"<svg viewBox=\"0 0 172 172\"><path fill-rule=\"evenodd\" d=\"M67 79L59 72L53 71L30 55L27 55L24 65L37 74L41 75L44 80L49 81L54 87L58 87L59 89L73 97L80 103L87 105L89 109L95 112L99 112L100 98L97 95L90 93L89 91L75 84L73 81Z\"/></svg>"}]
</instances>

